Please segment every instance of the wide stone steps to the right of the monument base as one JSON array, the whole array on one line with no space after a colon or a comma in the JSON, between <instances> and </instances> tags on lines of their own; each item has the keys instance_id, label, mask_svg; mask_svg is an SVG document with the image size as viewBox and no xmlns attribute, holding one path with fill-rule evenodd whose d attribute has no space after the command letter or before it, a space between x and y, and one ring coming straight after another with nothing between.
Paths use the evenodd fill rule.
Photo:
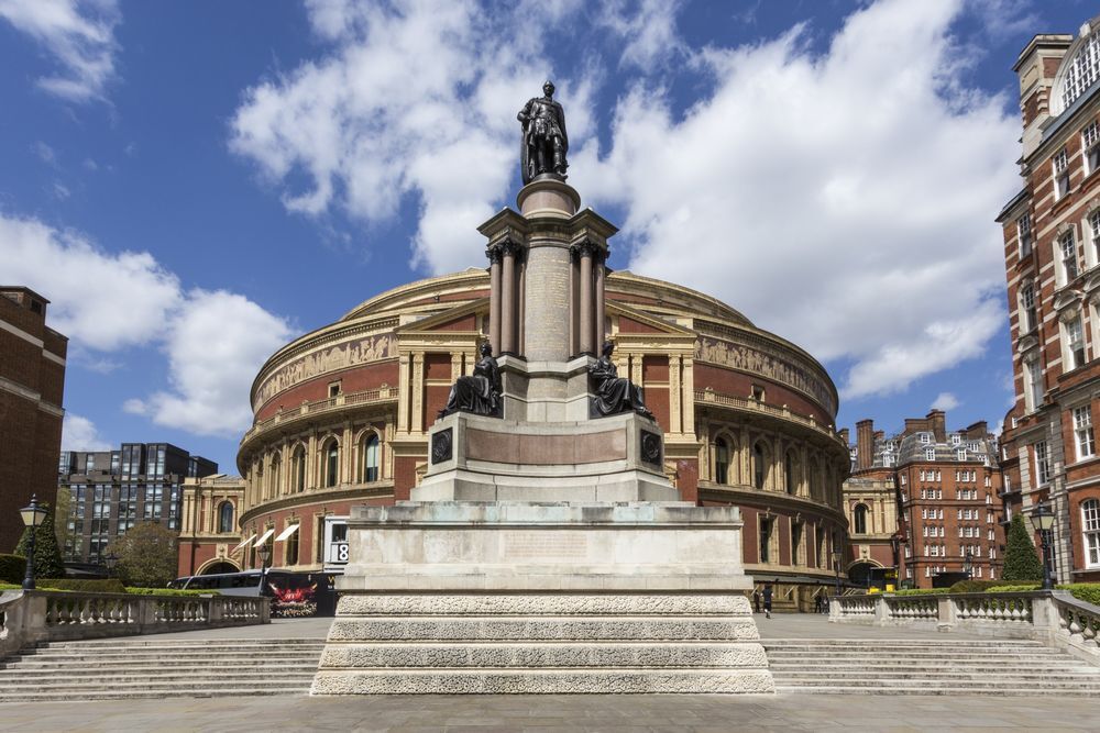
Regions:
<instances>
[{"instance_id":1,"label":"wide stone steps to the right of the monument base","mask_svg":"<svg viewBox=\"0 0 1100 733\"><path fill-rule=\"evenodd\" d=\"M1100 667L1040 642L766 638L777 692L1100 695Z\"/></svg>"}]
</instances>

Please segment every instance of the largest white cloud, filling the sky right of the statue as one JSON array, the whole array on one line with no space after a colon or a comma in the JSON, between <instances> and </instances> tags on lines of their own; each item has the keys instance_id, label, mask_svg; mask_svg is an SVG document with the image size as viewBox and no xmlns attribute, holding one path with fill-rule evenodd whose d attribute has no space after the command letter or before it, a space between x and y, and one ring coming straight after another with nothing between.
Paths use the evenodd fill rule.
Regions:
<instances>
[{"instance_id":1,"label":"largest white cloud, filling the sky right of the statue","mask_svg":"<svg viewBox=\"0 0 1100 733\"><path fill-rule=\"evenodd\" d=\"M851 359L846 398L980 356L1004 319L991 219L1019 186L1019 124L953 76L959 9L875 3L820 57L802 29L705 49L713 93L678 118L639 85L574 185L626 207L632 270Z\"/></svg>"}]
</instances>

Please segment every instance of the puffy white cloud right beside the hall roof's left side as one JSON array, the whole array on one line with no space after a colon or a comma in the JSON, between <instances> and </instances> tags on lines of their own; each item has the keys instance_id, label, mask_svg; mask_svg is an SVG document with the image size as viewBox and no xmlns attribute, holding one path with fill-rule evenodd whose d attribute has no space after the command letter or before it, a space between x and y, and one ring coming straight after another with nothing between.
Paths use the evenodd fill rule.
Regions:
<instances>
[{"instance_id":1,"label":"puffy white cloud right beside the hall roof's left side","mask_svg":"<svg viewBox=\"0 0 1100 733\"><path fill-rule=\"evenodd\" d=\"M256 370L290 336L286 321L243 296L193 290L165 344L172 389L123 409L199 435L239 435L252 421Z\"/></svg>"}]
</instances>

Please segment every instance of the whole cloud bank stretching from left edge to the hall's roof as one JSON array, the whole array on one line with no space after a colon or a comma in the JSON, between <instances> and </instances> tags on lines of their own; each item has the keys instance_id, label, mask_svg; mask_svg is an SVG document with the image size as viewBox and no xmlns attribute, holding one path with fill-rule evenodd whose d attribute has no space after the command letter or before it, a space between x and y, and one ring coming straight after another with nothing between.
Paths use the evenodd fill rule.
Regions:
<instances>
[{"instance_id":1,"label":"whole cloud bank stretching from left edge to the hall's roof","mask_svg":"<svg viewBox=\"0 0 1100 733\"><path fill-rule=\"evenodd\" d=\"M292 335L286 320L243 296L185 290L148 253L108 253L34 219L0 214L0 273L50 298L50 323L73 340L82 368L108 373L128 348L161 349L168 388L123 409L200 435L248 426L252 378ZM91 435L90 422L72 422L74 435Z\"/></svg>"}]
</instances>

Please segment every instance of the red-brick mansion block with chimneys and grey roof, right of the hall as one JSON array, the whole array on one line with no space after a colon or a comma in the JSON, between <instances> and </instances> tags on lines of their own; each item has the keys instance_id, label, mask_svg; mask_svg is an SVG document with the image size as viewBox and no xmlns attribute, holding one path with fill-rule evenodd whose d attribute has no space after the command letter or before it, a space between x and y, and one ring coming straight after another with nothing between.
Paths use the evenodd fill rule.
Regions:
<instances>
[{"instance_id":1,"label":"red-brick mansion block with chimneys and grey roof, right of the hall","mask_svg":"<svg viewBox=\"0 0 1100 733\"><path fill-rule=\"evenodd\" d=\"M872 567L895 567L902 585L931 588L939 573L996 580L1004 564L1001 469L985 422L947 431L933 410L888 437L870 420L856 426L845 510L851 525L853 582ZM893 507L889 493L893 492Z\"/></svg>"}]
</instances>

